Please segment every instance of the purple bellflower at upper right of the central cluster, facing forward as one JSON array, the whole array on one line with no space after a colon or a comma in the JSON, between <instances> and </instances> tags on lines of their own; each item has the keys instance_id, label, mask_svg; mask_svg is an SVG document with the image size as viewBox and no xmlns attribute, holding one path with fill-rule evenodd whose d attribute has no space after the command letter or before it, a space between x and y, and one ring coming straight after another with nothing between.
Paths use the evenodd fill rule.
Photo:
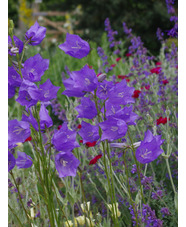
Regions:
<instances>
[{"instance_id":1,"label":"purple bellflower at upper right of the central cluster, facing forward","mask_svg":"<svg viewBox=\"0 0 186 227\"><path fill-rule=\"evenodd\" d=\"M122 80L110 89L108 94L109 101L120 105L134 103L134 99L132 98L134 90L135 89L133 87L127 86L127 82L125 80Z\"/></svg>"}]
</instances>

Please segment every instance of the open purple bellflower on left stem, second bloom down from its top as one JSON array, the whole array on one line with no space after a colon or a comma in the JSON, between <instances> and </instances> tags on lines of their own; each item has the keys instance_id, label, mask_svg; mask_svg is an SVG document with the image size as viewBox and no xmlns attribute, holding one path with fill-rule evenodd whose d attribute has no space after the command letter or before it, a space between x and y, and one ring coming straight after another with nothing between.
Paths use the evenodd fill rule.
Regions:
<instances>
[{"instance_id":1,"label":"open purple bellflower on left stem, second bloom down from its top","mask_svg":"<svg viewBox=\"0 0 186 227\"><path fill-rule=\"evenodd\" d=\"M31 82L38 82L48 69L49 59L43 59L40 54L28 58L21 70L23 78Z\"/></svg>"}]
</instances>

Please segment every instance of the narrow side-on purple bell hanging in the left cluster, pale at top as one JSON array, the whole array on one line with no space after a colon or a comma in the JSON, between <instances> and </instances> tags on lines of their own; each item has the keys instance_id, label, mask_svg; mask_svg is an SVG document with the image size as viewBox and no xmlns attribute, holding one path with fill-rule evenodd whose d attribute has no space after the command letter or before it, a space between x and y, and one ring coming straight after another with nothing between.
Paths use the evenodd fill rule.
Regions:
<instances>
[{"instance_id":1,"label":"narrow side-on purple bell hanging in the left cluster, pale at top","mask_svg":"<svg viewBox=\"0 0 186 227\"><path fill-rule=\"evenodd\" d=\"M40 117L41 129L45 129L45 127L49 128L53 125L53 121L52 121L51 117L48 115L48 110L46 109L44 104L41 104L39 117Z\"/></svg>"}]
</instances>

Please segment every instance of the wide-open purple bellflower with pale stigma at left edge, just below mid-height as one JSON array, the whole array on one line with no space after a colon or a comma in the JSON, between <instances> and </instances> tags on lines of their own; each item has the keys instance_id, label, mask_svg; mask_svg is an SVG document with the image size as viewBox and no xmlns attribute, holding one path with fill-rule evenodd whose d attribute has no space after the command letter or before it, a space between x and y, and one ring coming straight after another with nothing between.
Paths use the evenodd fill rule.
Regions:
<instances>
[{"instance_id":1,"label":"wide-open purple bellflower with pale stigma at left edge, just below mid-height","mask_svg":"<svg viewBox=\"0 0 186 227\"><path fill-rule=\"evenodd\" d=\"M16 143L23 143L31 134L30 125L25 121L16 119L8 121L8 142L10 147L15 147Z\"/></svg>"}]
</instances>

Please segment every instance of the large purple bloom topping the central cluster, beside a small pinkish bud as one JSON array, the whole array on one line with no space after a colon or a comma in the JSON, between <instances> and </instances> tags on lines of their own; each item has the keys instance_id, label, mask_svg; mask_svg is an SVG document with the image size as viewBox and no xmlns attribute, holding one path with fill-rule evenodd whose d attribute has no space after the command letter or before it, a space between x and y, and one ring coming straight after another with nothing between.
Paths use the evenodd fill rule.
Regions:
<instances>
[{"instance_id":1,"label":"large purple bloom topping the central cluster, beside a small pinkish bud","mask_svg":"<svg viewBox=\"0 0 186 227\"><path fill-rule=\"evenodd\" d=\"M97 88L98 78L93 69L85 65L79 71L70 72L70 78L63 81L66 90L62 93L69 97L83 97L86 92Z\"/></svg>"}]
</instances>

